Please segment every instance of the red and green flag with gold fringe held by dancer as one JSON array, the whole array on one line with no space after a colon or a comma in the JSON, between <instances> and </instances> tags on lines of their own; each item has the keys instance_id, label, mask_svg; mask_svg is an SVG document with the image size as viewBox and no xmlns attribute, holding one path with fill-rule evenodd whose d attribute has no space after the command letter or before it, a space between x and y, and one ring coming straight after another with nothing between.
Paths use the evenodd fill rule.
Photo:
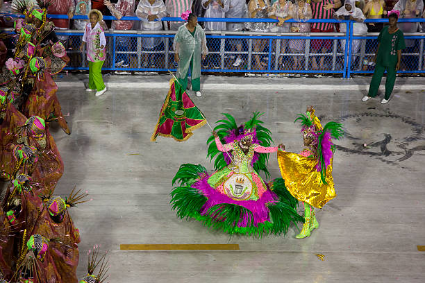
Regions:
<instances>
[{"instance_id":1,"label":"red and green flag with gold fringe held by dancer","mask_svg":"<svg viewBox=\"0 0 425 283\"><path fill-rule=\"evenodd\" d=\"M176 78L169 80L169 92L161 108L158 123L151 137L156 141L158 135L172 137L176 141L189 139L192 131L206 124L201 111L181 87Z\"/></svg>"}]
</instances>

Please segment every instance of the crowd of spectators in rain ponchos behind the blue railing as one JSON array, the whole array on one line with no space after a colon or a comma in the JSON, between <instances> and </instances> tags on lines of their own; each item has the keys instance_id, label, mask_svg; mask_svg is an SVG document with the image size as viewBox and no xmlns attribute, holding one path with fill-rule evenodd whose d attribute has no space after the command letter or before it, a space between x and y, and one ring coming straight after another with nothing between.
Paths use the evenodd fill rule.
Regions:
<instances>
[{"instance_id":1,"label":"crowd of spectators in rain ponchos behind the blue railing","mask_svg":"<svg viewBox=\"0 0 425 283\"><path fill-rule=\"evenodd\" d=\"M35 4L35 0L12 0L25 1L28 6ZM52 19L58 29L74 28L81 30L85 21L72 19L74 15L87 15L91 8L100 10L103 15L113 15L117 18L112 22L106 21L109 28L115 30L142 30L160 31L163 29L177 31L183 22L160 22L156 21L163 17L180 17L186 10L198 17L215 18L259 18L277 19L276 24L268 23L224 23L224 22L200 22L206 31L272 31L280 33L345 33L344 24L333 23L289 23L288 19L305 21L308 19L351 19L355 21L354 31L357 34L379 32L383 24L364 24L365 19L380 19L387 17L387 12L394 9L399 10L401 18L425 17L423 0L49 0L51 6L49 14L68 15L69 19ZM140 22L123 21L122 17L137 16ZM72 19L72 20L70 20ZM106 24L104 28L106 28ZM400 23L399 28L404 33L421 31L419 23ZM172 46L172 40L169 46ZM253 69L265 69L268 62L267 53L268 40L253 40L252 50ZM303 69L303 56L305 40L280 40L277 47L276 40L272 46L276 54L290 53L288 56L279 55L277 60L278 69ZM367 53L373 53L373 44L369 44ZM407 53L414 53L417 49L417 40L406 40ZM344 51L345 42L339 44L339 49ZM332 40L311 40L310 53L326 54L331 52ZM117 65L135 65L135 58L130 51L135 51L135 42L130 37L117 37L116 50L122 53L117 55ZM142 41L144 56L143 67L155 66L155 53L164 49L161 37L144 37ZM208 38L208 49L210 55L203 61L204 69L219 69L221 62L220 40ZM228 40L226 50L231 51L231 65L240 67L246 63L246 58L241 55L246 51L247 42L244 40ZM276 50L278 49L278 50ZM360 49L360 40L353 42L353 53ZM266 52L265 52L266 51ZM296 55L296 54L300 55ZM311 69L326 69L325 55L313 55L310 60ZM369 56L370 58L370 56ZM365 64L369 59L365 57ZM417 60L403 60L404 67L415 69ZM416 62L415 62L416 61ZM288 65L290 63L290 65ZM285 66L285 64L287 64Z\"/></svg>"}]
</instances>

